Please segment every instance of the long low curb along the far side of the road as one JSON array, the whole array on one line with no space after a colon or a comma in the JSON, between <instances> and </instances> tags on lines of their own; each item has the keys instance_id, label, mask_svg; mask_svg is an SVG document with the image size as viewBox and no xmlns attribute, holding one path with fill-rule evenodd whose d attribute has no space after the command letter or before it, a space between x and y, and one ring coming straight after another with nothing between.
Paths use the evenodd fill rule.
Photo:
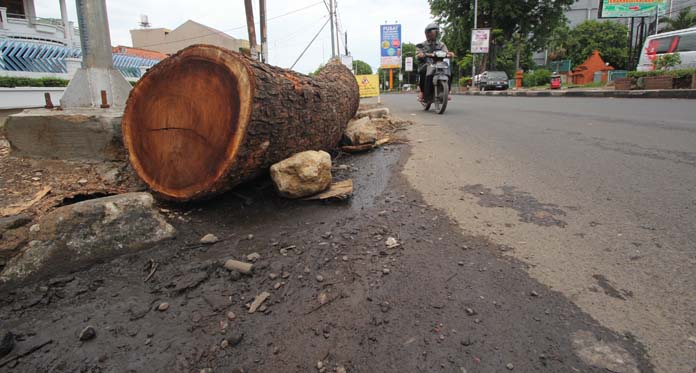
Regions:
<instances>
[{"instance_id":1,"label":"long low curb along the far side of the road","mask_svg":"<svg viewBox=\"0 0 696 373\"><path fill-rule=\"evenodd\" d=\"M486 91L452 93L458 96L502 96L502 97L615 97L615 98L685 98L696 99L696 89L632 90L632 91Z\"/></svg>"}]
</instances>

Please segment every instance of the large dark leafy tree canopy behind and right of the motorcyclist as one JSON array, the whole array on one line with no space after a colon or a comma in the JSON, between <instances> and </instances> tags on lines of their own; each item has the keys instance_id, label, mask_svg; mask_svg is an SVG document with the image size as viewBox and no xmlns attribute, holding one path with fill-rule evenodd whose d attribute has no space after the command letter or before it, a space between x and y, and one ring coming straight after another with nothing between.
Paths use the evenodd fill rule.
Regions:
<instances>
[{"instance_id":1,"label":"large dark leafy tree canopy behind and right of the motorcyclist","mask_svg":"<svg viewBox=\"0 0 696 373\"><path fill-rule=\"evenodd\" d=\"M474 26L473 0L428 0L430 11L445 30L443 41L450 50L464 56L470 48ZM541 49L553 30L565 22L564 12L574 0L479 0L478 27L493 30L491 55L488 60L477 58L495 67L497 52L519 37L517 49Z\"/></svg>"}]
</instances>

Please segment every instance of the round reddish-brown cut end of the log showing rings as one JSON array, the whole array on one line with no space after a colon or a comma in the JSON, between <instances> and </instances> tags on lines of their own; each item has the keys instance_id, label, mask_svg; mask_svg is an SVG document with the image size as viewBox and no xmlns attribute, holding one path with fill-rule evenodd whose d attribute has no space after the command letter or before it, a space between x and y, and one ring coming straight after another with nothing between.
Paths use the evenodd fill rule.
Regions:
<instances>
[{"instance_id":1,"label":"round reddish-brown cut end of the log showing rings","mask_svg":"<svg viewBox=\"0 0 696 373\"><path fill-rule=\"evenodd\" d=\"M122 122L138 176L179 201L220 187L251 118L253 82L243 56L207 45L150 69L131 91Z\"/></svg>"}]
</instances>

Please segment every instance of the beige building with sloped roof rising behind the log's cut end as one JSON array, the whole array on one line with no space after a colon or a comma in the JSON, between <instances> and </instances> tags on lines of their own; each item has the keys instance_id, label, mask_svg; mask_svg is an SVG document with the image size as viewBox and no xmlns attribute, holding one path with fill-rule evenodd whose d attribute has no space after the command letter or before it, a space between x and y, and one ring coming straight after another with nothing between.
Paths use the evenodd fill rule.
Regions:
<instances>
[{"instance_id":1,"label":"beige building with sloped roof rising behind the log's cut end","mask_svg":"<svg viewBox=\"0 0 696 373\"><path fill-rule=\"evenodd\" d=\"M166 28L141 28L131 30L134 48L148 49L172 55L189 45L211 44L239 52L248 49L247 40L236 39L222 31L188 20L174 30Z\"/></svg>"}]
</instances>

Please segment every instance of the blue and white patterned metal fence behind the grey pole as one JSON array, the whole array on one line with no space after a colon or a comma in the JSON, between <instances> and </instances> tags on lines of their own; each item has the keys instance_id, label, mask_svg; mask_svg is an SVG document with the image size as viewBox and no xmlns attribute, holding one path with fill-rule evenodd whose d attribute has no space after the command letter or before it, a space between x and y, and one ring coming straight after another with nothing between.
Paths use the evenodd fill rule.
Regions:
<instances>
[{"instance_id":1,"label":"blue and white patterned metal fence behind the grey pole","mask_svg":"<svg viewBox=\"0 0 696 373\"><path fill-rule=\"evenodd\" d=\"M66 58L81 58L80 48L31 43L12 39L0 40L0 70L67 73ZM140 67L152 67L159 60L115 53L114 67L127 78L139 78Z\"/></svg>"}]
</instances>

